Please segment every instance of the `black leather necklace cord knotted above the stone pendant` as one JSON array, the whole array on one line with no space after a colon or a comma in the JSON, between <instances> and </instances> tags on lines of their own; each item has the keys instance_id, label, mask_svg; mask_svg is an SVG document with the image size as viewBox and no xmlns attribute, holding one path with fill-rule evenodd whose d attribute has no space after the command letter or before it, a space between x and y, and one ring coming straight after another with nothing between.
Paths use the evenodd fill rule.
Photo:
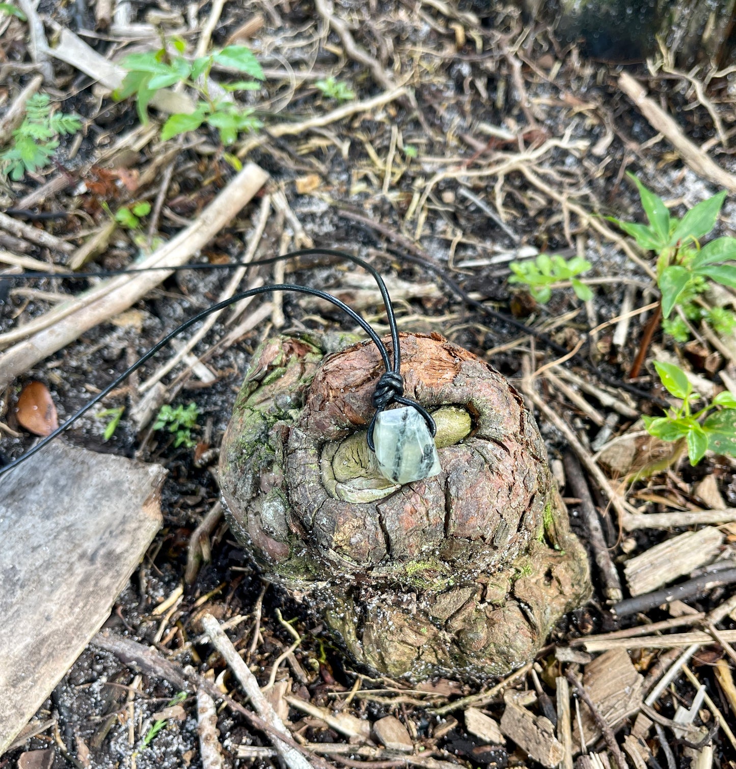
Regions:
<instances>
[{"instance_id":1,"label":"black leather necklace cord knotted above the stone pendant","mask_svg":"<svg viewBox=\"0 0 736 769\"><path fill-rule=\"evenodd\" d=\"M198 312L197 315L194 315L192 318L189 318L188 321L185 321L182 323L182 325L177 326L173 331L169 331L167 335L165 335L164 338L162 338L160 341L158 341L151 349L149 349L145 355L142 355L141 358L138 358L137 361L135 361L134 364L132 364L130 367L128 367L121 375L116 377L110 384L108 384L107 387L105 387L102 391L100 391L98 394L95 395L92 400L88 401L82 408L80 408L78 411L75 412L75 414L72 414L70 418L68 418L67 421L65 421L63 424L60 424L58 428L56 428L52 433L49 433L45 438L42 438L41 441L38 441L35 446L28 449L28 451L25 452L25 454L22 454L20 457L15 459L12 462L9 462L8 464L5 464L4 467L0 468L0 475L12 470L12 468L15 468L18 466L18 464L21 464L26 459L30 458L35 454L37 451L40 451L49 441L52 441L54 438L56 438L58 435L62 434L66 429L68 429L72 424L75 423L80 417L82 417L83 414L85 414L92 406L95 404L98 404L100 401L102 401L102 398L105 398L105 396L110 393L112 390L114 390L118 384L121 384L122 381L125 381L128 376L130 376L134 371L137 371L138 368L140 368L146 361L148 361L149 358L152 358L162 347L164 347L169 341L171 341L173 338L178 336L182 333L182 331L186 331L188 328L190 328L192 325L195 325L198 321L203 320L208 315L211 315L213 312L217 312L218 310L225 309L226 307L229 307L230 305L234 305L236 302L241 301L241 299L246 299L252 296L258 296L261 294L267 294L269 291L294 291L298 294L308 294L310 296L315 296L317 298L323 299L325 301L330 302L332 305L335 305L335 307L341 309L343 312L347 313L347 315L350 316L362 329L365 331L365 333L368 335L368 337L371 339L371 341L375 344L375 346L378 348L378 352L381 355L381 360L383 361L383 365L385 366L386 371L381 375L381 377L378 379L378 382L375 386L375 391L373 392L373 396L371 398L371 404L375 408L375 413L373 414L373 417L371 418L371 422L368 425L368 446L371 448L371 451L375 451L375 445L373 443L373 429L375 427L375 420L378 414L383 411L388 405L391 403L400 403L405 406L412 406L414 407L423 418L425 418L425 421L427 422L429 431L434 438L435 433L437 431L437 426L435 425L435 420L431 417L431 414L421 406L421 404L418 404L416 401L411 400L411 398L404 398L404 378L401 376L401 346L399 343L398 338L398 326L396 324L396 316L394 314L394 308L391 305L391 297L388 295L388 288L386 288L385 281L381 277L381 274L370 264L368 264L367 261L362 260L361 258L358 258L357 256L353 256L351 254L346 254L344 251L337 251L332 248L304 248L299 251L290 251L288 254L282 254L280 256L273 256L268 259L261 259L258 261L251 261L247 262L245 265L240 265L238 263L234 264L228 264L228 265L180 265L178 267L148 267L148 268L137 268L132 270L111 270L111 271L104 271L104 272L87 272L87 273L80 273L80 272L69 272L69 273L59 273L59 272L50 272L50 273L44 273L44 272L29 272L29 273L23 273L21 275L3 275L2 279L9 279L9 280L25 280L28 278L65 278L65 279L72 279L72 280L82 280L84 278L99 278L99 277L108 277L110 275L128 275L128 274L134 274L137 272L150 272L154 270L168 270L168 271L178 271L182 269L191 269L191 268L221 268L221 267L228 267L232 268L233 266L257 266L257 265L271 265L276 261L282 261L288 258L297 257L297 256L310 256L310 255L326 255L326 256L335 256L342 259L348 259L349 261L355 262L356 265L360 265L362 268L365 269L372 277L375 279L376 284L378 285L378 291L381 293L381 298L384 303L384 307L386 310L386 317L388 318L388 328L391 332L391 345L393 347L393 362L391 362L391 357L388 355L388 349L386 348L386 345L381 340L381 337L378 336L378 334L374 331L372 326L368 323L368 321L365 320L365 318L362 318L361 315L358 315L358 313L353 310L351 307L345 304L345 302L341 301L337 297L328 294L326 291L319 291L317 288L308 288L308 286L301 286L301 285L295 285L291 283L277 283L277 284L271 284L271 285L264 285L264 286L258 286L258 288L249 288L247 291L240 291L238 294L235 294L231 296L228 299L225 299L224 301L218 302L216 305L212 305L211 307L208 307L205 310L202 310L201 312Z\"/></svg>"}]
</instances>

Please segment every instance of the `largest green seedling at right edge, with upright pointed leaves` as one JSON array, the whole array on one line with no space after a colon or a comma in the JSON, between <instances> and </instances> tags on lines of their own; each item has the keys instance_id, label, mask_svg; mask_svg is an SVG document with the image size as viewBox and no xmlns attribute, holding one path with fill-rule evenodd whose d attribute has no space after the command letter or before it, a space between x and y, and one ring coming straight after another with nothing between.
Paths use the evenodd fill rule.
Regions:
<instances>
[{"instance_id":1,"label":"largest green seedling at right edge, with upright pointed leaves","mask_svg":"<svg viewBox=\"0 0 736 769\"><path fill-rule=\"evenodd\" d=\"M736 288L736 238L715 238L702 247L700 243L714 228L726 193L719 192L698 203L677 219L671 218L661 198L633 174L629 177L638 188L649 224L608 219L631 235L641 248L657 254L664 331L677 341L687 341L687 321L704 320L719 334L731 333L736 327L736 315L724 308L705 308L699 299L710 281Z\"/></svg>"}]
</instances>

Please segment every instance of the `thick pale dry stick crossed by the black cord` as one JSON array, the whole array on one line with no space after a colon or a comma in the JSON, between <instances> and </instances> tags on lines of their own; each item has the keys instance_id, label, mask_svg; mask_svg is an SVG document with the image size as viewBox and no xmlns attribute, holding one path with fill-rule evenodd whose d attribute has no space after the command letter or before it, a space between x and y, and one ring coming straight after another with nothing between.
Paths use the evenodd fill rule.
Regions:
<instances>
[{"instance_id":1,"label":"thick pale dry stick crossed by the black cord","mask_svg":"<svg viewBox=\"0 0 736 769\"><path fill-rule=\"evenodd\" d=\"M168 241L146 259L142 267L176 267L183 265L218 231L232 221L238 211L264 185L268 175L254 163L248 163L225 187L196 221ZM121 275L106 285L89 291L80 301L72 302L72 311L62 320L52 320L52 327L39 331L31 338L0 354L0 388L15 377L61 349L98 323L112 318L148 294L152 288L171 275L170 270ZM90 295L93 295L90 303ZM76 303L76 304L75 304ZM51 311L47 315L54 315ZM7 341L8 335L0 340Z\"/></svg>"}]
</instances>

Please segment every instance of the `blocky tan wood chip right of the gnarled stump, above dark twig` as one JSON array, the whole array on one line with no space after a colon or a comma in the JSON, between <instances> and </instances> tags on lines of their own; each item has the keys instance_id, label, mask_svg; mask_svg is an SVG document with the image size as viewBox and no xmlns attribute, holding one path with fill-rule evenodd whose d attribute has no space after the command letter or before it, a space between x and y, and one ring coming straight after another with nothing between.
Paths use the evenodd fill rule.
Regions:
<instances>
[{"instance_id":1,"label":"blocky tan wood chip right of the gnarled stump, above dark twig","mask_svg":"<svg viewBox=\"0 0 736 769\"><path fill-rule=\"evenodd\" d=\"M713 526L700 531L686 531L660 544L655 544L624 565L631 595L642 595L669 584L709 563L718 554L723 534Z\"/></svg>"}]
</instances>

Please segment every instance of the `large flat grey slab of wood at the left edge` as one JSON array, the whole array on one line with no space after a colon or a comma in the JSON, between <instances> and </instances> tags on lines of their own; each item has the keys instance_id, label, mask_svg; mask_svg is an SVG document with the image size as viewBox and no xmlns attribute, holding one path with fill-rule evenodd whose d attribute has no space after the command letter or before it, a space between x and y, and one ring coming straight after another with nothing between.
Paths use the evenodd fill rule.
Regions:
<instances>
[{"instance_id":1,"label":"large flat grey slab of wood at the left edge","mask_svg":"<svg viewBox=\"0 0 736 769\"><path fill-rule=\"evenodd\" d=\"M0 484L0 754L108 618L162 524L165 470L55 441Z\"/></svg>"}]
</instances>

